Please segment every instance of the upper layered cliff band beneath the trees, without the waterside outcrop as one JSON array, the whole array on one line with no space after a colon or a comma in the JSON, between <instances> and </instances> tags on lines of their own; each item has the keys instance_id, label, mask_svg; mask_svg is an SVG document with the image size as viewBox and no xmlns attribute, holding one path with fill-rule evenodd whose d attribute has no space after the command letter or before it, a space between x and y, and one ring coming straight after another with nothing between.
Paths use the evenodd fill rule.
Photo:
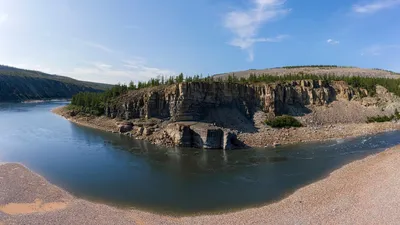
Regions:
<instances>
[{"instance_id":1,"label":"upper layered cliff band beneath the trees, without the waterside outcrop","mask_svg":"<svg viewBox=\"0 0 400 225\"><path fill-rule=\"evenodd\" d=\"M211 109L234 108L251 119L257 110L298 114L307 105L325 105L356 95L344 82L301 80L280 84L192 82L130 92L106 107L106 115L125 120L160 118L198 121Z\"/></svg>"}]
</instances>

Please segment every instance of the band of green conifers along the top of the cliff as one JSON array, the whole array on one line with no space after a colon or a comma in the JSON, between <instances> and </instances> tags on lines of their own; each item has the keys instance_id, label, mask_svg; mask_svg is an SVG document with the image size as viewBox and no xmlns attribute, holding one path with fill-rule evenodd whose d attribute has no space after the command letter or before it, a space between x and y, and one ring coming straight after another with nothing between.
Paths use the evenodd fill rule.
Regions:
<instances>
[{"instance_id":1,"label":"band of green conifers along the top of the cliff","mask_svg":"<svg viewBox=\"0 0 400 225\"><path fill-rule=\"evenodd\" d=\"M294 80L324 80L327 83L332 81L345 81L347 84L354 88L363 88L368 91L370 96L376 94L376 85L381 85L388 89L390 92L400 96L400 79L389 78L373 78L373 77L349 77L349 76L334 76L334 75L312 75L305 73L289 74L284 76L276 76L269 74L250 74L249 77L236 77L234 74L228 75L225 79L214 79L212 76L202 77L200 75L185 77L182 73L178 76L158 77L150 79L148 82L137 82L136 84L131 81L128 85L118 84L111 89L102 93L81 92L72 97L72 107L79 109L83 112L102 115L104 114L105 105L112 101L115 97L126 93L127 91L134 91L148 87L156 87L160 85L172 85L182 82L228 82L240 84L255 84L255 83L276 83L288 82Z\"/></svg>"}]
</instances>

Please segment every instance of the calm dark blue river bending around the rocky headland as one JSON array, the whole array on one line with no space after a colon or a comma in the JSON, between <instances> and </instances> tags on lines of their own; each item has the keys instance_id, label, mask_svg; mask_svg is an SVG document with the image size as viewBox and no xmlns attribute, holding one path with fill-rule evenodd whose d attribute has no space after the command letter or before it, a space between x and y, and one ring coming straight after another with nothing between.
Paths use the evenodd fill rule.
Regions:
<instances>
[{"instance_id":1,"label":"calm dark blue river bending around the rocky headland","mask_svg":"<svg viewBox=\"0 0 400 225\"><path fill-rule=\"evenodd\" d=\"M276 149L163 148L75 125L65 102L0 104L0 162L21 162L77 197L174 214L266 204L356 159L400 144L400 132Z\"/></svg>"}]
</instances>

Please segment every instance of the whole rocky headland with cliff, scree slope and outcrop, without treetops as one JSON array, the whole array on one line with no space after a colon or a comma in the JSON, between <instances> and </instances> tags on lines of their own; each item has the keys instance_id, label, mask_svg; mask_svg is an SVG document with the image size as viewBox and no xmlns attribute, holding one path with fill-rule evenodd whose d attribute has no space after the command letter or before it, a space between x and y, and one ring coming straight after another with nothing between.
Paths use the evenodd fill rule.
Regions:
<instances>
[{"instance_id":1,"label":"whole rocky headland with cliff, scree slope and outcrop, without treetops","mask_svg":"<svg viewBox=\"0 0 400 225\"><path fill-rule=\"evenodd\" d=\"M102 117L62 114L85 124L107 124L109 131L154 144L235 149L292 143L303 136L351 136L352 126L365 124L367 117L393 115L400 109L400 99L382 86L376 86L373 97L367 96L367 90L344 81L183 82L128 91L108 101ZM282 114L295 116L304 127L265 126L265 119ZM355 132L361 134L364 128Z\"/></svg>"}]
</instances>

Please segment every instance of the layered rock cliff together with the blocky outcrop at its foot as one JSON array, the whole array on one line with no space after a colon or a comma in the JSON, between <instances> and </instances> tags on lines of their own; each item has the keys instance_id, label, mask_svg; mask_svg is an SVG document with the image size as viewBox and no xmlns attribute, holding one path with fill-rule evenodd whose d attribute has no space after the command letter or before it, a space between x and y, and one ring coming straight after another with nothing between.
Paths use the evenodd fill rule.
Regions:
<instances>
[{"instance_id":1,"label":"layered rock cliff together with the blocky outcrop at its foot","mask_svg":"<svg viewBox=\"0 0 400 225\"><path fill-rule=\"evenodd\" d=\"M344 82L300 80L276 84L191 82L131 91L106 106L108 117L133 121L121 133L156 144L243 148L238 132L257 132L255 116L309 113L358 95Z\"/></svg>"}]
</instances>

